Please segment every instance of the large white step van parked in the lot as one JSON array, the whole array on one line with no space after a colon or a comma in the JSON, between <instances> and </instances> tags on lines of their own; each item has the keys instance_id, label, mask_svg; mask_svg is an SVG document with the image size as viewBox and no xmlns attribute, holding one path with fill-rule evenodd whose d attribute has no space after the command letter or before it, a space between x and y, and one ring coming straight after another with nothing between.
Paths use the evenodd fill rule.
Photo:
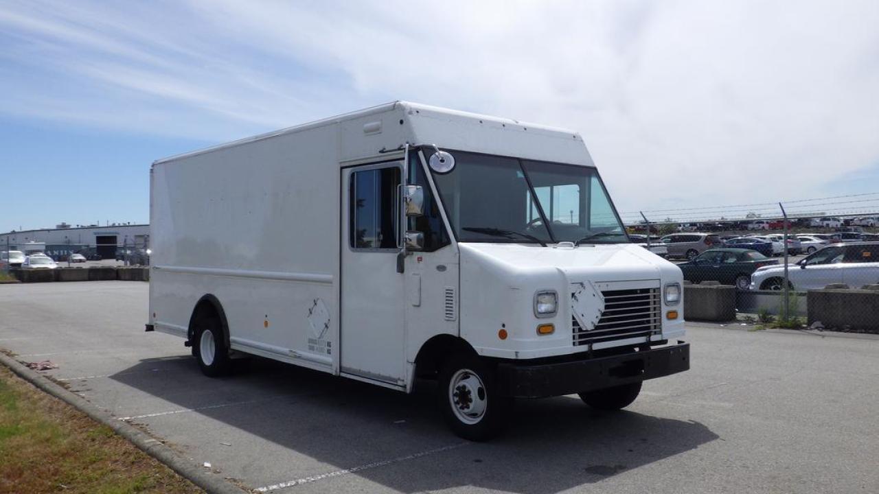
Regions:
<instances>
[{"instance_id":1,"label":"large white step van parked in the lot","mask_svg":"<svg viewBox=\"0 0 879 494\"><path fill-rule=\"evenodd\" d=\"M689 368L678 267L579 134L395 102L153 163L147 331L410 392L461 437L516 397L618 410Z\"/></svg>"}]
</instances>

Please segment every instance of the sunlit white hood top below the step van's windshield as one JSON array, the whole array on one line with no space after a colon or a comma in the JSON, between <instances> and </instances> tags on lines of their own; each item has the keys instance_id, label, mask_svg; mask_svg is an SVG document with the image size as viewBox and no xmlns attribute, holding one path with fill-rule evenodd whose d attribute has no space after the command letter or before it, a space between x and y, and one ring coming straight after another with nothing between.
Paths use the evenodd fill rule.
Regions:
<instances>
[{"instance_id":1,"label":"sunlit white hood top below the step van's windshield","mask_svg":"<svg viewBox=\"0 0 879 494\"><path fill-rule=\"evenodd\" d=\"M659 280L681 278L680 269L635 243L585 244L575 248L534 243L459 243L462 253L502 265L512 275L563 272L579 280ZM500 267L500 266L498 266Z\"/></svg>"}]
</instances>

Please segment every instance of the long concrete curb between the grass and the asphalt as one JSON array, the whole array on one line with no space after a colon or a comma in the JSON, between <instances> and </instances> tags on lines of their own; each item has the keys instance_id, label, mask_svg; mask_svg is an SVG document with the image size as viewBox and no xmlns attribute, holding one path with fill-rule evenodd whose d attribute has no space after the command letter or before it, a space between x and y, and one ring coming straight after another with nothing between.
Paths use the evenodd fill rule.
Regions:
<instances>
[{"instance_id":1,"label":"long concrete curb between the grass and the asphalt","mask_svg":"<svg viewBox=\"0 0 879 494\"><path fill-rule=\"evenodd\" d=\"M149 437L148 434L142 432L137 427L134 427L134 425L129 425L114 418L105 410L99 409L84 398L62 388L59 384L48 380L44 375L39 374L33 369L25 367L18 362L18 360L11 358L3 352L0 352L0 364L9 367L13 373L18 374L18 377L30 382L37 388L47 392L49 395L62 400L64 403L68 403L76 408L76 410L80 410L85 415L88 415L91 419L110 427L113 429L113 432L116 432L126 440L130 441L144 453L161 461L163 464L167 465L168 468L174 470L180 476L183 476L190 482L198 485L200 488L207 490L207 492L211 494L242 494L242 492L246 492L245 490L241 490L233 484L226 482L226 480L221 477L208 474L199 466L194 465L190 461L187 461L183 457L174 453L170 447L166 447L163 443Z\"/></svg>"}]
</instances>

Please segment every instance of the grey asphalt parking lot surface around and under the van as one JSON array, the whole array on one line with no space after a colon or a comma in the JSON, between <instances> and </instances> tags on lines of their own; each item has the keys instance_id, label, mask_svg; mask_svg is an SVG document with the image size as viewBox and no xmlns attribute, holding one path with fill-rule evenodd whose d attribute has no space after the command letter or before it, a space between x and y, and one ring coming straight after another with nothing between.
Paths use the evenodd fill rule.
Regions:
<instances>
[{"instance_id":1,"label":"grey asphalt parking lot surface around and under the van","mask_svg":"<svg viewBox=\"0 0 879 494\"><path fill-rule=\"evenodd\" d=\"M274 492L879 492L879 338L690 324L692 369L628 410L522 401L490 443L414 395L143 332L148 284L0 286L0 347L194 463ZM734 328L734 329L733 329Z\"/></svg>"}]
</instances>

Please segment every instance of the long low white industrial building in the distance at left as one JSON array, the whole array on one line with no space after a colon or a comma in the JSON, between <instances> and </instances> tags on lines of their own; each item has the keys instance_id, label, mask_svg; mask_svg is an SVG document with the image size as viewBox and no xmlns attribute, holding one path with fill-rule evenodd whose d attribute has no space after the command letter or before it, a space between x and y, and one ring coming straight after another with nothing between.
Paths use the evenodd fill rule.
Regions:
<instances>
[{"instance_id":1,"label":"long low white industrial building in the distance at left","mask_svg":"<svg viewBox=\"0 0 879 494\"><path fill-rule=\"evenodd\" d=\"M71 252L94 251L101 258L115 258L117 248L148 249L149 224L110 223L105 226L29 229L0 234L0 251L24 251L27 243L44 243L47 255L63 258Z\"/></svg>"}]
</instances>

